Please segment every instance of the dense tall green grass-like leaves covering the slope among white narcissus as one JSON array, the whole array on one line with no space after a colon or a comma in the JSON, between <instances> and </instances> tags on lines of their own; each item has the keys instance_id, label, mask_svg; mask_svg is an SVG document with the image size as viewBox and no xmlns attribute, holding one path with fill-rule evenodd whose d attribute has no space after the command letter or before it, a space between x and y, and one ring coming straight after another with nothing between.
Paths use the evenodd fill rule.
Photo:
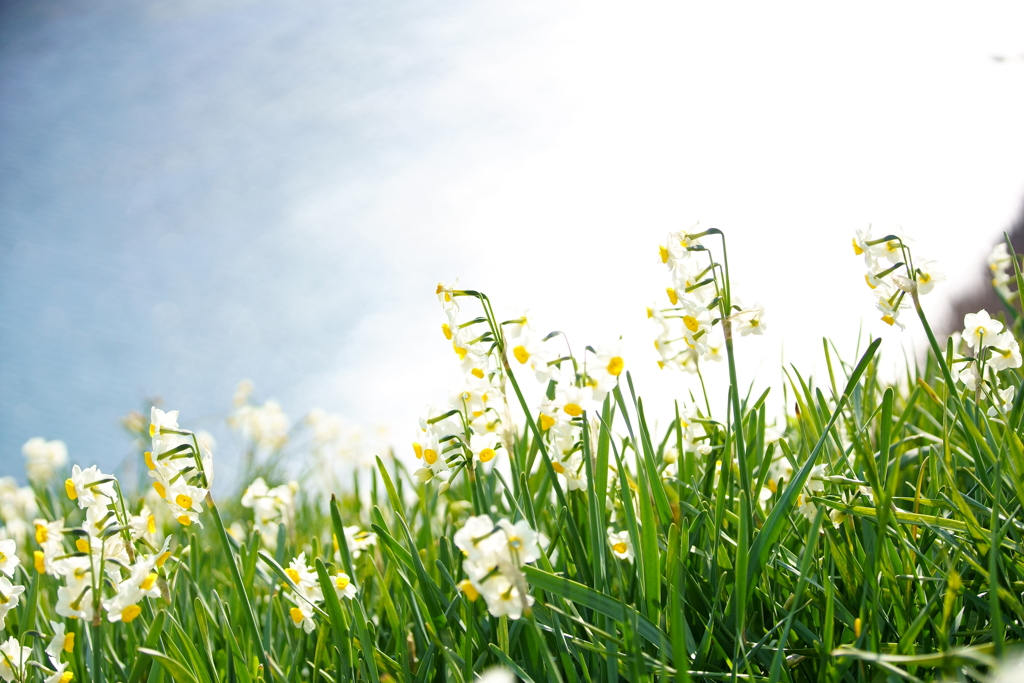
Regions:
<instances>
[{"instance_id":1,"label":"dense tall green grass-like leaves covering the slope among white narcissus","mask_svg":"<svg viewBox=\"0 0 1024 683\"><path fill-rule=\"evenodd\" d=\"M682 234L698 256L721 237ZM528 340L526 322L500 319L484 294L441 287L445 334L457 352L460 343L484 349L476 366L473 353L460 357L467 374L482 370L498 399L484 401L481 415L464 398L462 411L427 416L416 452L431 451L440 465L414 469L412 457L382 454L347 490L330 501L300 495L270 525L251 523L238 497L223 506L207 499L202 528L168 519L146 536L132 530L138 505L120 496L120 510L111 504L111 518L93 533L99 545L84 551L75 544L89 537L80 506L59 484L37 480L40 517L63 518L68 529L55 562L95 561L99 553L103 565L104 544L117 538L127 539L133 558L113 571L93 565L93 620L62 618L57 590L68 580L59 567L34 568L41 546L30 527L13 570L26 591L7 613L4 638L32 648L34 664L20 667L8 652L0 673L52 679L62 661L77 680L128 683L468 683L492 667L538 683L988 680L996 658L1024 638L1024 392L1007 403L993 391L1017 387L1020 371L986 380L978 354L980 379L963 388L953 375L972 360L954 356L959 341L935 338L919 288L903 283L929 337L928 356L910 359L905 376L887 384L879 340L850 358L824 341L827 377L786 368L780 390L793 410L772 429L767 392L750 395L734 364L737 326L754 318L757 327L761 313L740 315L751 309L734 304L724 238L716 244L721 265L712 258L696 274L714 288L705 323L723 332L727 412L681 402L677 419L655 430L628 369L608 360L614 351L545 355L556 339ZM1019 283L1015 256L1013 263ZM913 281L910 266L900 265ZM904 295L895 296L898 310ZM1007 313L1019 335L1016 300ZM688 343L698 346L701 337ZM543 362L522 360L520 342ZM598 361L618 372L588 373ZM556 368L557 377L545 375ZM549 380L540 410L523 392L531 374ZM567 419L577 394L559 392L572 385L597 393ZM513 424L517 412L523 417ZM551 415L577 435L569 447L545 426ZM455 431L428 443L441 423ZM473 436L490 432L492 452L481 456ZM176 426L168 434L187 434L193 445L178 453L195 457L186 476L197 476L201 442ZM280 443L271 451L281 453ZM537 559L506 551L488 575L468 577L475 565L456 535L483 515L488 524L509 520L502 528L524 520L520 528L538 532ZM372 531L376 543L366 533L353 542L346 526ZM276 537L264 538L268 530ZM290 564L300 553L303 560ZM101 600L127 590L133 563L151 556L165 561L153 566L157 580L141 613L112 623ZM299 565L301 572L292 568ZM341 590L339 572L354 596ZM488 582L503 575L506 600L516 600L512 587L520 593L495 616L492 600L501 596L487 592ZM44 649L57 623L76 638L54 661ZM67 682L62 675L53 680Z\"/></svg>"}]
</instances>

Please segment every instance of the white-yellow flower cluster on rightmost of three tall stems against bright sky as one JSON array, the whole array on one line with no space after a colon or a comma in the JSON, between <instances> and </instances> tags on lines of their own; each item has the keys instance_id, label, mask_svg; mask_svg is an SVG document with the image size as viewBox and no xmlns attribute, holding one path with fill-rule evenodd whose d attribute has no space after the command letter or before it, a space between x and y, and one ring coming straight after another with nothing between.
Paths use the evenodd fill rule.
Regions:
<instances>
[{"instance_id":1,"label":"white-yellow flower cluster on rightmost of three tall stems against bright sky","mask_svg":"<svg viewBox=\"0 0 1024 683\"><path fill-rule=\"evenodd\" d=\"M864 282L876 296L876 308L882 322L904 329L899 322L900 311L906 307L907 294L931 292L946 276L936 267L935 261L911 257L908 245L911 240L899 227L885 237L871 236L871 227L857 230L853 238L853 253L864 257L867 272Z\"/></svg>"}]
</instances>

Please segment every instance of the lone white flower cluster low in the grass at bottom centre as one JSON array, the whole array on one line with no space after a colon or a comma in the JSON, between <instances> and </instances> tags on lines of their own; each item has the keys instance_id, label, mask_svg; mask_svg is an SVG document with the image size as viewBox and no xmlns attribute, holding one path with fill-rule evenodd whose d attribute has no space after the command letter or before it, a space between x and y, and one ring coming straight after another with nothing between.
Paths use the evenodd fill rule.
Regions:
<instances>
[{"instance_id":1,"label":"lone white flower cluster low in the grass at bottom centre","mask_svg":"<svg viewBox=\"0 0 1024 683\"><path fill-rule=\"evenodd\" d=\"M541 557L538 535L529 523L499 519L496 524L488 515L470 517L453 540L465 556L462 568L467 578L459 588L466 597L472 601L482 595L494 616L522 616L534 604L522 566Z\"/></svg>"}]
</instances>

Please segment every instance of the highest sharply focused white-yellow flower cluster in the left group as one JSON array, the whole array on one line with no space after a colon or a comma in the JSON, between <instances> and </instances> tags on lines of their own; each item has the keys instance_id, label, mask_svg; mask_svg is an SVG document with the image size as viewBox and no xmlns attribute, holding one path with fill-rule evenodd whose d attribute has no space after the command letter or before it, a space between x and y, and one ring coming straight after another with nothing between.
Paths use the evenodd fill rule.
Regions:
<instances>
[{"instance_id":1,"label":"highest sharply focused white-yellow flower cluster in the left group","mask_svg":"<svg viewBox=\"0 0 1024 683\"><path fill-rule=\"evenodd\" d=\"M199 515L213 483L210 444L178 427L177 411L165 413L156 407L150 414L150 436L153 450L145 453L145 465L154 490L178 523L202 526Z\"/></svg>"}]
</instances>

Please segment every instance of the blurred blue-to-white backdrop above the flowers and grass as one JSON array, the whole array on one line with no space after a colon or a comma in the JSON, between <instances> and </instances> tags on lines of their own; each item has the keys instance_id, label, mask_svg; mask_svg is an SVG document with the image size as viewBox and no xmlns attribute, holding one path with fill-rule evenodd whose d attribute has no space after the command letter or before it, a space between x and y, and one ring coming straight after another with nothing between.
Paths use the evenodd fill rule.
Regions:
<instances>
[{"instance_id":1,"label":"blurred blue-to-white backdrop above the flowers and grass","mask_svg":"<svg viewBox=\"0 0 1024 683\"><path fill-rule=\"evenodd\" d=\"M902 225L955 327L1024 198L1022 26L1014 2L2 0L0 475L33 436L113 469L159 397L229 480L243 379L406 449L459 375L456 276L577 347L622 335L640 393L682 395L644 309L697 220L767 309L744 382L815 373L823 336L902 365L920 326L881 323L852 233Z\"/></svg>"}]
</instances>

